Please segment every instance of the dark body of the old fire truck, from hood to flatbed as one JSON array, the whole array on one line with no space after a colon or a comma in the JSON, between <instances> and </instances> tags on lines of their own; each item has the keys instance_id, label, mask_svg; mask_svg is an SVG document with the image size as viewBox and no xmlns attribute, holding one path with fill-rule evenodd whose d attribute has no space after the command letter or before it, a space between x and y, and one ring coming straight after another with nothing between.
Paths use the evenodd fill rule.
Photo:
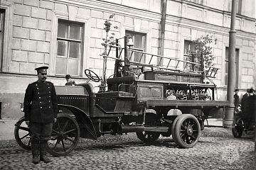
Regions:
<instances>
[{"instance_id":1,"label":"dark body of the old fire truck, from hood to flatbed","mask_svg":"<svg viewBox=\"0 0 256 170\"><path fill-rule=\"evenodd\" d=\"M208 84L141 80L129 76L107 79L107 86L108 91L101 93L95 93L92 84L56 86L59 106L73 108L71 112L80 125L80 137L95 139L105 133L141 132L152 127L154 132L170 136L172 123L181 113L196 116L202 126L210 113L223 112L228 106L228 101L191 99L191 91L195 88L213 91L214 86ZM186 100L167 99L165 91L176 87L187 92ZM169 113L170 110L181 112ZM145 124L147 115L154 119L151 126Z\"/></svg>"}]
</instances>

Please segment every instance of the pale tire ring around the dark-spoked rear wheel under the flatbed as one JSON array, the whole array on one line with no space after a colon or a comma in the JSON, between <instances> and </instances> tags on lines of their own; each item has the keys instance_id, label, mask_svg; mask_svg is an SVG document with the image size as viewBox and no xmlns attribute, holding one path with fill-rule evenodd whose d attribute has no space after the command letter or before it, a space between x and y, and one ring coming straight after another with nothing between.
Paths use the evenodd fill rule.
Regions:
<instances>
[{"instance_id":1,"label":"pale tire ring around the dark-spoked rear wheel under the flatbed","mask_svg":"<svg viewBox=\"0 0 256 170\"><path fill-rule=\"evenodd\" d=\"M196 136L196 140L193 143L191 143L191 144L183 142L183 140L181 139L181 125L187 119L194 120L196 122L196 126L197 126L196 129L198 130L198 134ZM191 148L191 147L196 145L196 143L199 140L200 135L201 135L201 127L200 127L200 124L199 124L197 118L194 115L183 114L183 115L181 115L181 118L178 118L178 120L176 122L176 125L174 126L174 139L176 139L175 142L176 142L176 144L178 146L180 146L182 148Z\"/></svg>"}]
</instances>

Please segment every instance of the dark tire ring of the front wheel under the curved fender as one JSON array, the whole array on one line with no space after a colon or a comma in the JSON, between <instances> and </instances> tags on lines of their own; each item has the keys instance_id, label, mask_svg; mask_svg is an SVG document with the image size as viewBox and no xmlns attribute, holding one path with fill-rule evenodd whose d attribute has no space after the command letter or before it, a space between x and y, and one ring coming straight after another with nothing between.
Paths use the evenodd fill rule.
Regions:
<instances>
[{"instance_id":1,"label":"dark tire ring of the front wheel under the curved fender","mask_svg":"<svg viewBox=\"0 0 256 170\"><path fill-rule=\"evenodd\" d=\"M73 151L73 149L75 149L75 147L78 145L78 140L80 137L80 128L79 125L77 123L77 121L71 117L70 115L66 114L66 113L59 113L57 116L57 122L60 120L60 118L68 118L69 120L71 120L73 122L73 124L75 125L75 128L77 130L77 135L75 137L75 142L73 143L72 147L70 147L69 149L65 150L64 152L55 152L53 149L51 149L51 147L49 146L49 141L48 141L48 145L46 146L46 150L49 154L53 155L54 157L63 157L63 156L67 156L70 152ZM54 128L54 126L53 126ZM63 127L61 127L63 128ZM51 137L53 138L53 136Z\"/></svg>"}]
</instances>

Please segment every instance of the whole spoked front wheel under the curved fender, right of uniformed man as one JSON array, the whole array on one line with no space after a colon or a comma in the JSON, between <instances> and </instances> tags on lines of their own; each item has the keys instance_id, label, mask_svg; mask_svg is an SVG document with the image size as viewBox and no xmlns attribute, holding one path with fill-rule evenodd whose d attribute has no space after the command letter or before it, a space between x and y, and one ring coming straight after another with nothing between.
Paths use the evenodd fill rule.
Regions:
<instances>
[{"instance_id":1,"label":"whole spoked front wheel under the curved fender, right of uniformed man","mask_svg":"<svg viewBox=\"0 0 256 170\"><path fill-rule=\"evenodd\" d=\"M70 115L59 113L53 124L53 132L48 140L47 151L54 157L66 156L78 145L80 128Z\"/></svg>"}]
</instances>

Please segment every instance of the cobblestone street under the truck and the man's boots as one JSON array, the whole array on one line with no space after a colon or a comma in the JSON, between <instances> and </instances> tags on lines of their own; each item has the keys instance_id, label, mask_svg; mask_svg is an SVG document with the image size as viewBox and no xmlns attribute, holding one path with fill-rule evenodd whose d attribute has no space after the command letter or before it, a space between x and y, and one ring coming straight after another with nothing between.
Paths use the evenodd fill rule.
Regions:
<instances>
[{"instance_id":1,"label":"cobblestone street under the truck and the man's boots","mask_svg":"<svg viewBox=\"0 0 256 170\"><path fill-rule=\"evenodd\" d=\"M202 133L191 149L178 148L171 137L144 145L133 133L80 139L67 157L50 157L52 162L37 165L31 163L31 152L15 140L1 140L0 169L255 169L252 138L235 139L230 133L215 137Z\"/></svg>"}]
</instances>

